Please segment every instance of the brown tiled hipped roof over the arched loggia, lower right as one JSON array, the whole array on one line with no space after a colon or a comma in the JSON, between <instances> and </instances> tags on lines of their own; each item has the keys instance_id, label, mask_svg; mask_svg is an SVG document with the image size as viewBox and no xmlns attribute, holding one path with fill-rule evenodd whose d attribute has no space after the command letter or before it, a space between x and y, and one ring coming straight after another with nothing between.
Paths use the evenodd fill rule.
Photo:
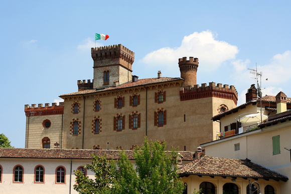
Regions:
<instances>
[{"instance_id":1,"label":"brown tiled hipped roof over the arched loggia, lower right","mask_svg":"<svg viewBox=\"0 0 291 194\"><path fill-rule=\"evenodd\" d=\"M242 178L264 178L274 180L288 180L287 176L279 174L264 166L255 164L248 159L229 159L203 156L184 166L178 173L183 175L231 176Z\"/></svg>"}]
</instances>

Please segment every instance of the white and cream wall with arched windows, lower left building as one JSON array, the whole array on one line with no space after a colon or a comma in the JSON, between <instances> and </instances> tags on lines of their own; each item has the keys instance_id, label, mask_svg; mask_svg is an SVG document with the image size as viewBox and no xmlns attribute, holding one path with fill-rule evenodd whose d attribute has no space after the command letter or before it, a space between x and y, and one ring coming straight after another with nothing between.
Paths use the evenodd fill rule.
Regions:
<instances>
[{"instance_id":1,"label":"white and cream wall with arched windows, lower left building","mask_svg":"<svg viewBox=\"0 0 291 194\"><path fill-rule=\"evenodd\" d=\"M73 170L91 160L72 160L71 193L77 193L73 189L75 176ZM70 159L6 159L2 158L0 165L3 167L2 182L0 183L0 193L69 193L70 189ZM13 183L13 168L22 165L24 169L23 183ZM42 165L45 169L44 183L34 183L34 170L37 165ZM66 178L64 184L57 184L56 168L64 166ZM94 178L91 171L87 171L90 178Z\"/></svg>"}]
</instances>

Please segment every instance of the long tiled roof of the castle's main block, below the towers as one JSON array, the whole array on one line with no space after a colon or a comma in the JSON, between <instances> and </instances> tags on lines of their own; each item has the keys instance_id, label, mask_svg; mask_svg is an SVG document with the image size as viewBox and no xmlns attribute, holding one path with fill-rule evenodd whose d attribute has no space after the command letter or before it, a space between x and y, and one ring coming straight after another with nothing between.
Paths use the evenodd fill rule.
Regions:
<instances>
[{"instance_id":1,"label":"long tiled roof of the castle's main block, below the towers","mask_svg":"<svg viewBox=\"0 0 291 194\"><path fill-rule=\"evenodd\" d=\"M82 90L79 92L73 92L69 94L62 94L60 97L63 96L74 96L74 95L83 95L83 94L92 94L97 92L104 92L104 91L110 91L110 90L118 90L118 89L124 89L124 88L130 88L130 87L136 87L136 86L144 86L149 84L158 84L158 83L164 83L164 82L171 82L171 81L178 81L178 80L184 80L183 78L170 78L170 77L161 77L161 78L146 78L146 79L139 79L136 82L128 82L116 87L109 87L109 88L101 88L101 89L92 89L92 90Z\"/></svg>"}]
</instances>

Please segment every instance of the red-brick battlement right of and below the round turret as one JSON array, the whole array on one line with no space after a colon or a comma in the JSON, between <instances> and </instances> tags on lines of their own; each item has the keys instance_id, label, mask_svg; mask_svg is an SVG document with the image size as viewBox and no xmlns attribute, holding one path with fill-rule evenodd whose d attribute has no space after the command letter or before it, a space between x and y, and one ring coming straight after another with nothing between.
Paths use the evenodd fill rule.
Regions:
<instances>
[{"instance_id":1,"label":"red-brick battlement right of and below the round turret","mask_svg":"<svg viewBox=\"0 0 291 194\"><path fill-rule=\"evenodd\" d=\"M238 94L234 86L230 86L214 82L209 82L209 85L203 83L201 87L199 85L185 86L180 88L180 100L193 100L199 98L216 97L233 100L237 104Z\"/></svg>"}]
</instances>

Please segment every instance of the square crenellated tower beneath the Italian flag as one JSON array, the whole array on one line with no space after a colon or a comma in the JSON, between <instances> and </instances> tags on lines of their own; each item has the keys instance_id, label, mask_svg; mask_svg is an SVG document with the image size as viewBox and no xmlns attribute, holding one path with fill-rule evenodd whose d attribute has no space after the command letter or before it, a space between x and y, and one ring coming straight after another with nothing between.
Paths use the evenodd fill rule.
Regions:
<instances>
[{"instance_id":1,"label":"square crenellated tower beneath the Italian flag","mask_svg":"<svg viewBox=\"0 0 291 194\"><path fill-rule=\"evenodd\" d=\"M93 88L106 88L131 81L134 52L119 45L91 48L94 61Z\"/></svg>"}]
</instances>

